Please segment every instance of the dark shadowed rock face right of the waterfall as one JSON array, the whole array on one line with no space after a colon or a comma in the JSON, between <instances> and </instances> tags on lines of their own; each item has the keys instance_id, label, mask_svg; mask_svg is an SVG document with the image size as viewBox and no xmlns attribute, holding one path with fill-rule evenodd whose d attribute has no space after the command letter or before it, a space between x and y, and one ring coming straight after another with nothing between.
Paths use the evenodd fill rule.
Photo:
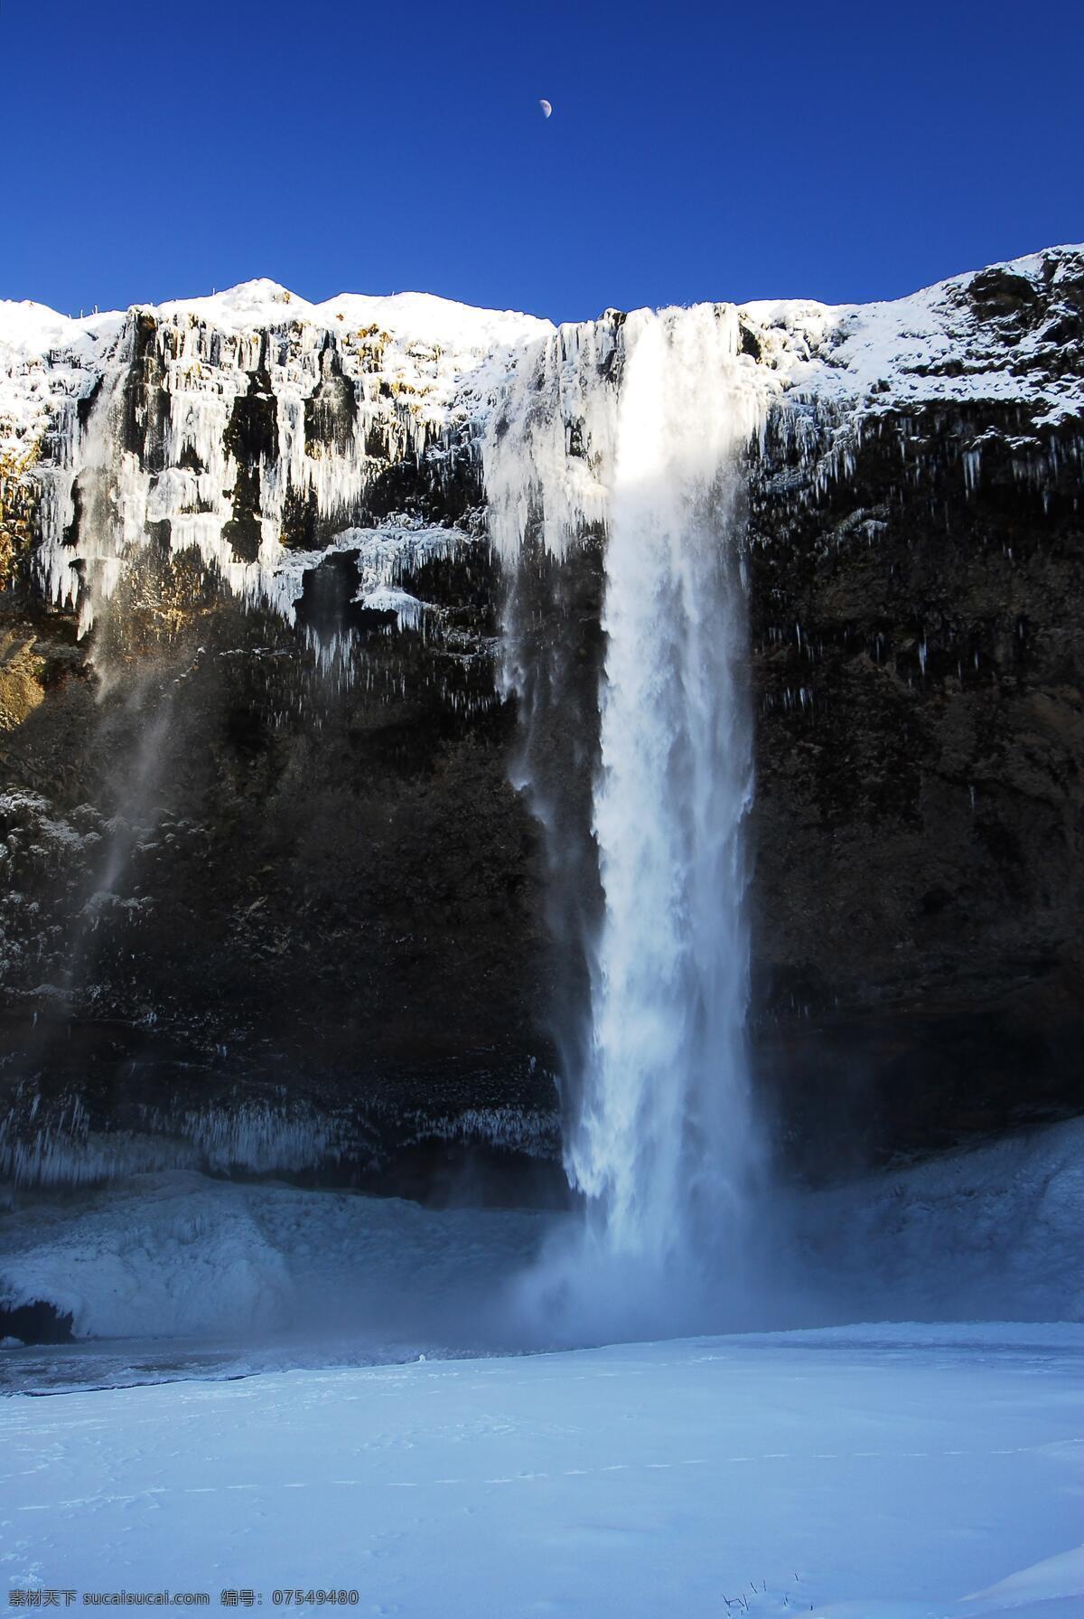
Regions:
<instances>
[{"instance_id":1,"label":"dark shadowed rock face right of the waterfall","mask_svg":"<svg viewBox=\"0 0 1084 1619\"><path fill-rule=\"evenodd\" d=\"M828 1153L1081 1099L1079 466L1021 478L1019 431L891 416L822 497L756 502L757 1031Z\"/></svg>"}]
</instances>

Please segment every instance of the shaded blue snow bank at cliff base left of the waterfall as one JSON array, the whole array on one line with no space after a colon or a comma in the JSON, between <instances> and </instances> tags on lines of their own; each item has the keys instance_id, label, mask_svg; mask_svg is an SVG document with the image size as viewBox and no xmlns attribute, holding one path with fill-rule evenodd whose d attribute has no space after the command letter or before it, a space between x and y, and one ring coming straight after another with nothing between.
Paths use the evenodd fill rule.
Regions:
<instances>
[{"instance_id":1,"label":"shaded blue snow bank at cliff base left of the waterfall","mask_svg":"<svg viewBox=\"0 0 1084 1619\"><path fill-rule=\"evenodd\" d=\"M529 1263L542 1219L193 1171L133 1175L0 1216L0 1307L50 1303L76 1337L348 1324L432 1334L442 1300L469 1310L497 1276Z\"/></svg>"}]
</instances>

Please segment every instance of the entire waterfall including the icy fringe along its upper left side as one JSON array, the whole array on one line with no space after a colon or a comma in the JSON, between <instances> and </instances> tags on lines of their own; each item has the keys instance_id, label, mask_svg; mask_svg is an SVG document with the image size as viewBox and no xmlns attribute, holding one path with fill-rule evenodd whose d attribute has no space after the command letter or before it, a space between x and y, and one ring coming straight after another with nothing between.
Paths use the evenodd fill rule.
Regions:
<instances>
[{"instance_id":1,"label":"entire waterfall including the icy fringe along its upper left side","mask_svg":"<svg viewBox=\"0 0 1084 1619\"><path fill-rule=\"evenodd\" d=\"M741 539L743 458L773 385L739 346L730 306L561 329L524 358L484 447L511 580L505 678L527 729L539 685L552 686L552 640L574 627L555 612L537 633L524 573L547 554L560 572L578 541L599 525L605 534L591 790L600 903L579 941L582 1028L558 1033L565 1166L586 1200L581 1258L633 1268L641 1294L652 1276L733 1274L759 1169L744 1031ZM545 701L560 729L560 693ZM568 835L532 756L553 748L527 738L523 776L550 837ZM552 868L563 869L560 850Z\"/></svg>"}]
</instances>

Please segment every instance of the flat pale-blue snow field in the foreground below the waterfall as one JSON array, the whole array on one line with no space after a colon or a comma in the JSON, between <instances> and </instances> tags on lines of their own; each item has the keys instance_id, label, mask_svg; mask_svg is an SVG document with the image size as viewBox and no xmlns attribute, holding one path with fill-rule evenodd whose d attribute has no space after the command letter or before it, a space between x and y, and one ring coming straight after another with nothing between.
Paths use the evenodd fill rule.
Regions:
<instances>
[{"instance_id":1,"label":"flat pale-blue snow field in the foreground below the waterfall","mask_svg":"<svg viewBox=\"0 0 1084 1619\"><path fill-rule=\"evenodd\" d=\"M16 1396L5 1590L1069 1619L1084 1336L836 1329Z\"/></svg>"}]
</instances>

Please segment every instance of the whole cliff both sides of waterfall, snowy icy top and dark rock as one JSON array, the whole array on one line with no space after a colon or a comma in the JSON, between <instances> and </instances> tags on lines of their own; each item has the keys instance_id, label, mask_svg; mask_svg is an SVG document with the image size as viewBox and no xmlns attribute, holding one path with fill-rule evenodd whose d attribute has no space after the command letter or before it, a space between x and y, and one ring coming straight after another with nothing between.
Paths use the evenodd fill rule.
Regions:
<instances>
[{"instance_id":1,"label":"whole cliff both sides of waterfall, snowy icy top and dark rock","mask_svg":"<svg viewBox=\"0 0 1084 1619\"><path fill-rule=\"evenodd\" d=\"M0 1154L23 1179L432 1190L479 1148L493 1172L555 1156L553 1007L579 984L510 782L477 457L545 325L286 300L10 321ZM1084 257L741 322L772 395L751 894L780 1140L838 1169L1079 1106ZM581 806L599 557L595 534L560 580L539 560L531 620L571 664L542 745Z\"/></svg>"}]
</instances>

